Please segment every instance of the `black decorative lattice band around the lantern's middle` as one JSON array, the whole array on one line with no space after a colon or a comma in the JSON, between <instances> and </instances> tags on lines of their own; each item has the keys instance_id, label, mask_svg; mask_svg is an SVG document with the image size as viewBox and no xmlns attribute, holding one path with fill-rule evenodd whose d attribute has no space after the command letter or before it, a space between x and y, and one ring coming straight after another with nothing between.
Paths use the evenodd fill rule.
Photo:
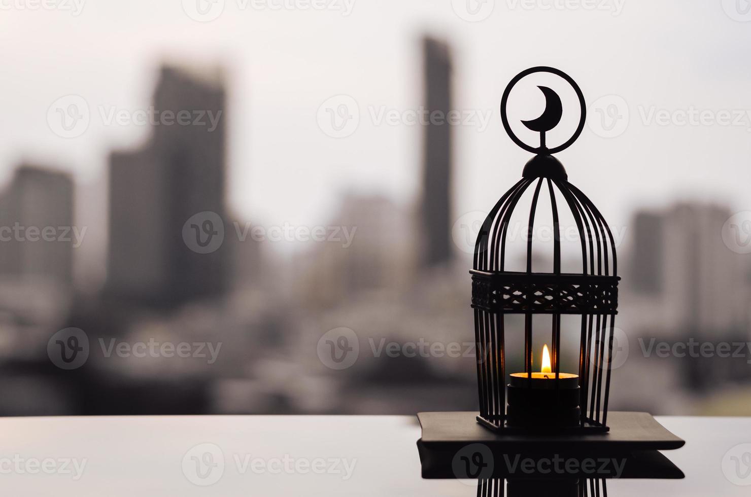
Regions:
<instances>
[{"instance_id":1,"label":"black decorative lattice band around the lantern's middle","mask_svg":"<svg viewBox=\"0 0 751 497\"><path fill-rule=\"evenodd\" d=\"M618 276L472 270L472 307L523 314L616 314Z\"/></svg>"}]
</instances>

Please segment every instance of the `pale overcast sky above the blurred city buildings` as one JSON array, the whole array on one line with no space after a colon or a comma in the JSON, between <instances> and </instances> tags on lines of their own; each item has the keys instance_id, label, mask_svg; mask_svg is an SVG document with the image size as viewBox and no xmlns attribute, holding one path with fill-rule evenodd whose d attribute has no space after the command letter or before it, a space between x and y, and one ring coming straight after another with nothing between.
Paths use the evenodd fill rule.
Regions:
<instances>
[{"instance_id":1,"label":"pale overcast sky above the blurred city buildings","mask_svg":"<svg viewBox=\"0 0 751 497\"><path fill-rule=\"evenodd\" d=\"M454 107L489 116L456 126L457 217L487 211L520 176L529 152L505 135L497 109L508 80L533 65L568 72L584 91L591 126L559 158L612 224L628 221L635 206L686 198L751 210L751 22L743 22L751 14L734 11L736 2L312 0L316 8L305 9L311 0L46 1L57 8L0 0L0 179L21 160L72 171L79 222L91 230L106 215L108 152L138 146L148 132L107 125L101 109L148 107L165 61L226 68L228 194L244 218L325 223L350 190L409 203L421 129L408 111L423 103L426 33L451 43ZM47 120L66 95L91 110L74 138ZM335 95L359 111L345 137L321 124L321 104ZM616 96L598 100L607 95ZM572 102L562 97L566 113ZM529 99L539 113L541 94ZM623 116L624 104L628 125L611 128L607 119ZM379 122L388 110L406 117Z\"/></svg>"}]
</instances>

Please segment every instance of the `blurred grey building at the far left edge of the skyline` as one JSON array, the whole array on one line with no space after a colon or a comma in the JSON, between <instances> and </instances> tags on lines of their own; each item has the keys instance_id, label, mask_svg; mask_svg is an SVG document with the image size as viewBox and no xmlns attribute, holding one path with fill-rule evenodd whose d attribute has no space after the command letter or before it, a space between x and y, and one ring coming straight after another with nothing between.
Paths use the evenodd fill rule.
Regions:
<instances>
[{"instance_id":1,"label":"blurred grey building at the far left edge of the skyline","mask_svg":"<svg viewBox=\"0 0 751 497\"><path fill-rule=\"evenodd\" d=\"M73 181L66 173L22 165L0 197L0 273L71 285ZM81 233L80 227L76 227ZM84 233L85 234L85 233Z\"/></svg>"}]
</instances>

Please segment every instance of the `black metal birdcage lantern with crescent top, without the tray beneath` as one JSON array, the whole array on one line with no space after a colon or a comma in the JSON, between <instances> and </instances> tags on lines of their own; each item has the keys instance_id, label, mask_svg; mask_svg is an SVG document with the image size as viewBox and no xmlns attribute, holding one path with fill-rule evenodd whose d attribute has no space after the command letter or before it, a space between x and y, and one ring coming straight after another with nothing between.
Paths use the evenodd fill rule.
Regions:
<instances>
[{"instance_id":1,"label":"black metal birdcage lantern with crescent top, without the tray beneath","mask_svg":"<svg viewBox=\"0 0 751 497\"><path fill-rule=\"evenodd\" d=\"M540 133L540 145L521 142L508 125L506 104L513 86L538 72L555 74L575 90L581 119L575 134L560 146L548 149L545 133L561 119L558 95L540 86L547 100L543 115L524 122ZM613 326L617 314L618 280L614 237L605 218L581 190L569 182L553 153L566 149L584 128L586 107L581 89L567 74L554 68L530 68L518 74L505 89L501 101L505 130L514 143L535 153L522 178L498 200L482 224L475 244L472 274L472 308L475 341L484 360L478 360L478 421L493 430L608 431L608 398L613 354ZM540 196L550 198L553 220L552 273L532 272L532 236L526 240L526 271L506 270L508 227L520 197L532 191L529 233L538 214ZM559 210L568 209L581 241L581 272L561 270ZM525 211L526 212L526 211ZM562 213L562 212L561 212ZM526 214L525 214L526 215ZM508 315L523 316L523 372L507 375L505 336L521 333L510 329ZM538 315L549 315L550 368L532 371L532 324ZM581 316L578 330L578 372L560 369L561 316ZM564 333L569 332L566 330ZM479 357L480 354L478 354ZM519 354L520 356L522 354ZM508 383L508 378L511 382Z\"/></svg>"}]
</instances>

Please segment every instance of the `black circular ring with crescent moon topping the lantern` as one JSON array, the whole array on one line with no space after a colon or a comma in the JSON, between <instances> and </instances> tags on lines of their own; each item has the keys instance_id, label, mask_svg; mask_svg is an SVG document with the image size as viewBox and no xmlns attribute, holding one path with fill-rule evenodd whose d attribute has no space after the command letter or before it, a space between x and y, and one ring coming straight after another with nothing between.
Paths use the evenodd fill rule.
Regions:
<instances>
[{"instance_id":1,"label":"black circular ring with crescent moon topping the lantern","mask_svg":"<svg viewBox=\"0 0 751 497\"><path fill-rule=\"evenodd\" d=\"M558 97L558 95L556 95L556 92L553 92L553 90L547 88L547 86L538 86L538 88L541 89L541 91L544 93L545 100L547 102L542 115L538 117L538 119L534 119L532 121L523 121L523 124L527 128L531 129L532 131L538 131L540 133L540 146L534 147L527 145L522 140L520 140L516 134L514 134L514 131L511 130L511 126L508 125L506 104L508 104L508 95L511 93L511 89L513 89L514 86L516 86L516 84L519 83L519 81L523 77L535 73L550 73L562 77L564 80L566 80L567 83L569 83L569 85L572 86L572 88L576 92L576 95L579 98L579 105L581 106L581 117L579 118L579 125L572 137L569 138L569 140L567 140L565 143L562 143L559 146L554 146L552 149L548 149L547 146L545 146L545 132L550 131L551 129L555 128L556 125L558 125L558 122L560 121L562 115L562 107L560 98ZM516 143L522 149L525 149L527 152L532 152L537 155L553 155L554 153L560 152L563 149L568 149L569 146L571 146L572 143L574 143L579 137L581 131L584 130L584 122L586 119L587 106L584 104L584 95L581 93L581 89L572 77L556 68L539 66L536 68L529 68L526 71L521 71L508 83L508 86L506 86L506 89L503 92L503 97L501 98L501 120L503 122L503 128L505 128L506 133L508 133L508 136L511 137L511 140L513 140L514 143Z\"/></svg>"}]
</instances>

